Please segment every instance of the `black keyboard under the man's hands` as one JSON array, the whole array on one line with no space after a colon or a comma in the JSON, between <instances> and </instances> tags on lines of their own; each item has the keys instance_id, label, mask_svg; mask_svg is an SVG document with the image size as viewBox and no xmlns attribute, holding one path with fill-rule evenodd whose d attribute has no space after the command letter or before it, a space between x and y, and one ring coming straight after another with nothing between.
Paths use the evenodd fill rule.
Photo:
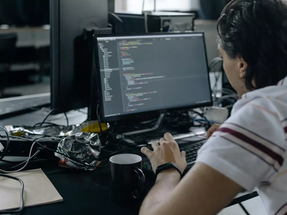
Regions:
<instances>
[{"instance_id":1,"label":"black keyboard under the man's hands","mask_svg":"<svg viewBox=\"0 0 287 215\"><path fill-rule=\"evenodd\" d=\"M194 165L195 160L197 158L197 151L205 142L206 140L202 140L200 142L195 142L183 147L179 147L180 151L186 152L187 167L185 168L183 175L185 175L185 173L187 173L187 171L189 171L189 169ZM143 159L143 172L146 177L156 179L156 175L154 174L152 165L148 160L148 158Z\"/></svg>"}]
</instances>

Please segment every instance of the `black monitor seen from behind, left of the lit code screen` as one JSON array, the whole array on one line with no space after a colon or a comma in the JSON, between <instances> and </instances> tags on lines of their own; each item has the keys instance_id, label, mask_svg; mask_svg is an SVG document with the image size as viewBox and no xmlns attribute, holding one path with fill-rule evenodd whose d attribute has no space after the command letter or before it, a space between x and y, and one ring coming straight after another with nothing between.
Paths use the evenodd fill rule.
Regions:
<instances>
[{"instance_id":1,"label":"black monitor seen from behind, left of the lit code screen","mask_svg":"<svg viewBox=\"0 0 287 215\"><path fill-rule=\"evenodd\" d=\"M108 26L107 0L50 0L50 24L51 108L59 113L88 107L90 65L76 53L76 38L84 28Z\"/></svg>"}]
</instances>

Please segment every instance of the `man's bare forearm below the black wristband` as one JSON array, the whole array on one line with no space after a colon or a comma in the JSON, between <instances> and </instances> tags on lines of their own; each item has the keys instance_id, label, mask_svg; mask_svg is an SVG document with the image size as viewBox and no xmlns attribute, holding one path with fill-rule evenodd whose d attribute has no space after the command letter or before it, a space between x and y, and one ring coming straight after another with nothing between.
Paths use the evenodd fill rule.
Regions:
<instances>
[{"instance_id":1,"label":"man's bare forearm below the black wristband","mask_svg":"<svg viewBox=\"0 0 287 215\"><path fill-rule=\"evenodd\" d=\"M180 174L177 170L170 169L158 174L156 182L146 196L140 215L153 215L157 212L160 203L170 197L170 194L180 181Z\"/></svg>"}]
</instances>

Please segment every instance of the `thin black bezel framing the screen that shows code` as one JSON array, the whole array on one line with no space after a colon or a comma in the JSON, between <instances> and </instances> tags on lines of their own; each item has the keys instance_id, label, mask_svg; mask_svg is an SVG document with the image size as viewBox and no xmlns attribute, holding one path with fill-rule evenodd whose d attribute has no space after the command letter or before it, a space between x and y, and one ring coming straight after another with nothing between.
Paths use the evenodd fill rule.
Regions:
<instances>
[{"instance_id":1,"label":"thin black bezel framing the screen that shows code","mask_svg":"<svg viewBox=\"0 0 287 215\"><path fill-rule=\"evenodd\" d=\"M199 34L201 33L203 36L203 44L204 44L204 53L205 53L205 62L206 62L206 71L208 75L208 86L209 86L209 92L210 92L210 102L200 103L200 104L193 104L193 105L184 105L184 106L178 106L178 107L172 107L172 108L163 108L158 110L152 110L152 111L146 111L146 112L137 112L137 113L131 113L131 114L122 114L118 116L104 116L104 103L103 103L103 96L102 96L102 83L101 83L101 74L100 74L100 64L99 64L99 53L98 53L98 40L97 38L103 38L103 37L121 37L121 36L147 36L147 35L176 35L176 34ZM118 120L126 120L126 119L141 119L145 118L147 116L156 116L162 113L168 113L168 112L175 112L175 111L181 111L181 110L189 110L193 108L198 107L207 107L212 106L212 90L210 87L210 76L209 76L209 67L208 67L208 59L207 59L207 51L206 51L206 44L205 44L205 35L202 31L193 31L193 32L164 32L164 33L148 33L148 34L125 34L125 35L99 35L95 36L95 45L94 45L94 59L95 59L95 73L96 75L93 75L92 82L95 84L92 85L92 95L95 95L97 92L98 94L98 108L95 107L95 105L91 105L92 112L97 112L97 117L100 117L101 122L114 122ZM96 79L96 80L95 80ZM95 89L97 88L97 89ZM94 102L92 102L94 103Z\"/></svg>"}]
</instances>

